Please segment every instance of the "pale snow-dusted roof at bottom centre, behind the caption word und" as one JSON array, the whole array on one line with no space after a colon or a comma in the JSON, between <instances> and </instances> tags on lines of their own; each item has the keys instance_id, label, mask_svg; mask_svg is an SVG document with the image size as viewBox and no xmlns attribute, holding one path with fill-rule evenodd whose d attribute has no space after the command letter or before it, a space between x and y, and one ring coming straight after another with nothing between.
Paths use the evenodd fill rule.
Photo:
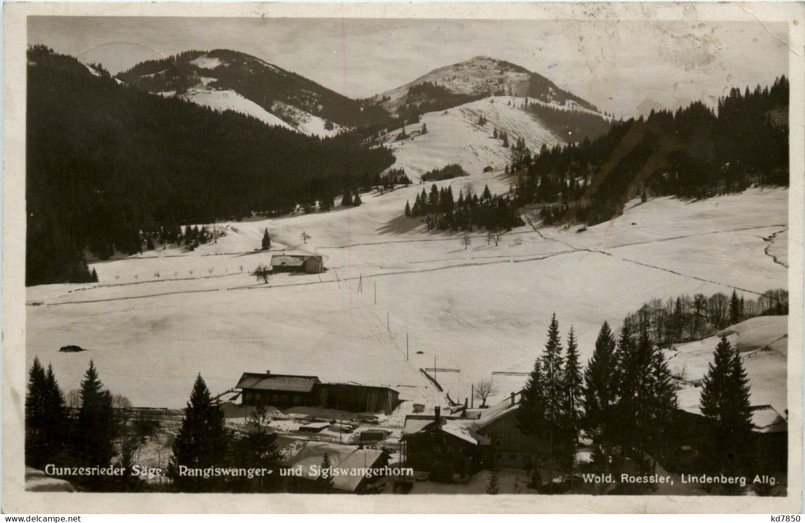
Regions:
<instances>
[{"instance_id":1,"label":"pale snow-dusted roof at bottom centre, behind the caption word und","mask_svg":"<svg viewBox=\"0 0 805 523\"><path fill-rule=\"evenodd\" d=\"M316 469L312 470L311 466L320 467L325 453L330 459L330 466L333 469L339 468L349 472L357 471L361 468L375 467L383 456L382 451L375 449L358 449L349 445L310 441L291 461L291 466L301 466L303 476L316 480ZM355 492L364 477L359 474L349 473L333 475L332 486L338 490Z\"/></svg>"}]
</instances>

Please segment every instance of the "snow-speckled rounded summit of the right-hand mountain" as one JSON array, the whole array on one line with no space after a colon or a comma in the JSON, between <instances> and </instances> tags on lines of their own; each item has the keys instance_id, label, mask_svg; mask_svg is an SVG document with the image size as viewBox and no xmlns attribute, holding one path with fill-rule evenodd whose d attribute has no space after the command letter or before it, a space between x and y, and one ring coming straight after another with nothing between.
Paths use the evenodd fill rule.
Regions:
<instances>
[{"instance_id":1,"label":"snow-speckled rounded summit of the right-hand mountain","mask_svg":"<svg viewBox=\"0 0 805 523\"><path fill-rule=\"evenodd\" d=\"M461 103L489 95L530 97L568 108L597 112L588 101L559 89L551 80L505 60L475 56L470 60L434 69L416 80L374 97L390 113L404 116L417 106L446 109L444 98L463 97Z\"/></svg>"}]
</instances>

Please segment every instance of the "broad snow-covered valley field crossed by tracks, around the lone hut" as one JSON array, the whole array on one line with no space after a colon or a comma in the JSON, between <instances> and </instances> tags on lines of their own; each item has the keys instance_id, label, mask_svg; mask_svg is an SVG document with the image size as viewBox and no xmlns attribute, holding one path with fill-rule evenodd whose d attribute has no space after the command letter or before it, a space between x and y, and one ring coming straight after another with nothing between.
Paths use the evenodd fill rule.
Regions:
<instances>
[{"instance_id":1,"label":"broad snow-covered valley field crossed by tracks, around the lone hut","mask_svg":"<svg viewBox=\"0 0 805 523\"><path fill-rule=\"evenodd\" d=\"M457 194L467 182L479 192L509 187L499 173L438 185ZM444 405L420 368L460 369L437 374L455 400L490 376L507 395L525 377L491 373L529 371L553 312L564 334L576 328L586 358L604 320L619 326L649 299L787 285L786 267L766 253L766 238L786 228L785 189L630 202L584 233L526 225L495 246L476 231L464 249L460 234L424 233L421 220L402 216L423 187L367 194L357 208L223 224L225 237L192 253L94 263L98 284L31 287L27 364L52 363L69 390L93 359L134 406L184 406L196 373L218 393L266 369L390 385ZM272 249L321 253L328 270L257 282L248 273L271 255L254 250L266 228ZM88 350L58 352L67 344ZM770 386L784 390L784 377Z\"/></svg>"}]
</instances>

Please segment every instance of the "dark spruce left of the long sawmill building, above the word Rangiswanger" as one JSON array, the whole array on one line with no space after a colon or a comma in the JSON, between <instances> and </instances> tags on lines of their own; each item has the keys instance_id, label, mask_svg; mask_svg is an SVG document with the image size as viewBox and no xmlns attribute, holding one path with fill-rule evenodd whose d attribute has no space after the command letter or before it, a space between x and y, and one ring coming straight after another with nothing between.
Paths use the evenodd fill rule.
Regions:
<instances>
[{"instance_id":1,"label":"dark spruce left of the long sawmill building, above the word Rangiswanger","mask_svg":"<svg viewBox=\"0 0 805 523\"><path fill-rule=\"evenodd\" d=\"M224 467L229 445L229 435L224 428L224 411L213 400L199 374L193 384L190 401L184 410L184 418L171 450L167 476L180 492L201 492L217 490L222 480L204 480L199 476L180 474L180 467L208 468Z\"/></svg>"}]
</instances>

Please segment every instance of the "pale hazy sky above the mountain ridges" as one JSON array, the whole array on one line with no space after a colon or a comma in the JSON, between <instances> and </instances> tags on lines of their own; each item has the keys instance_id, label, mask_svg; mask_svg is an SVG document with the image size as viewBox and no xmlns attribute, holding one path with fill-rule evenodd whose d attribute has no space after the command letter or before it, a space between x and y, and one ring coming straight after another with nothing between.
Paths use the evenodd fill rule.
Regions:
<instances>
[{"instance_id":1,"label":"pale hazy sky above the mountain ridges","mask_svg":"<svg viewBox=\"0 0 805 523\"><path fill-rule=\"evenodd\" d=\"M117 73L188 49L242 51L349 97L493 56L539 72L618 117L788 72L786 26L749 22L30 17L43 43Z\"/></svg>"}]
</instances>

